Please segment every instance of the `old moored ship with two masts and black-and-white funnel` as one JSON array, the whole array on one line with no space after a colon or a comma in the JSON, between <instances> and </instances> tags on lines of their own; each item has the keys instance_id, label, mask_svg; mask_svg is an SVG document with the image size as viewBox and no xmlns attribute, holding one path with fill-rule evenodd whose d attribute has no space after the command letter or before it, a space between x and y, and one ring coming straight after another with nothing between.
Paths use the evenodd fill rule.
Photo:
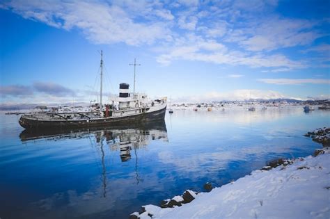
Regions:
<instances>
[{"instance_id":1,"label":"old moored ship with two masts and black-and-white funnel","mask_svg":"<svg viewBox=\"0 0 330 219\"><path fill-rule=\"evenodd\" d=\"M19 118L24 129L74 129L84 127L118 127L164 120L167 98L149 99L147 95L129 92L128 83L120 83L119 95L109 97L108 104L102 104L102 70L100 64L100 103L93 104L87 111L40 111L26 113Z\"/></svg>"}]
</instances>

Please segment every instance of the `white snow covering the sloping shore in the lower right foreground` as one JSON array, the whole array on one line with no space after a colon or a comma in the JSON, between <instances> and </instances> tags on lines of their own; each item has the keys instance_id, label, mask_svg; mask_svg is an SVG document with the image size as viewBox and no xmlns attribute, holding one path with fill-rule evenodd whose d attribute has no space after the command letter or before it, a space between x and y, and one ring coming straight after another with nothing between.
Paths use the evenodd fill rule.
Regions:
<instances>
[{"instance_id":1,"label":"white snow covering the sloping shore in the lower right foreground","mask_svg":"<svg viewBox=\"0 0 330 219\"><path fill-rule=\"evenodd\" d=\"M210 193L191 191L195 200L182 206L143 206L143 218L330 218L329 151L255 170Z\"/></svg>"}]
</instances>

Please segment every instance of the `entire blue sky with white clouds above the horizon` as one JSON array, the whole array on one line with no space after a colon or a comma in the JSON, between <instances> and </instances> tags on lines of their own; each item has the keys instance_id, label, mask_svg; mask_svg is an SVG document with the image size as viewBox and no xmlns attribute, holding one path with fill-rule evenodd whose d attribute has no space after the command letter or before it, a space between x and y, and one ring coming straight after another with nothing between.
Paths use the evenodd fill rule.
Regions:
<instances>
[{"instance_id":1,"label":"entire blue sky with white clouds above the horizon","mask_svg":"<svg viewBox=\"0 0 330 219\"><path fill-rule=\"evenodd\" d=\"M1 104L329 99L330 1L1 1ZM106 97L104 97L106 99Z\"/></svg>"}]
</instances>

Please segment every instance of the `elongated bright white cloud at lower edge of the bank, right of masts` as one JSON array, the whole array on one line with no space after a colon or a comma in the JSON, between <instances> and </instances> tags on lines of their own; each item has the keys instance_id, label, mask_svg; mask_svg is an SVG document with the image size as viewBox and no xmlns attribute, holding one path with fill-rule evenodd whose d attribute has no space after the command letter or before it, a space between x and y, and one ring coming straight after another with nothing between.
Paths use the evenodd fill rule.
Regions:
<instances>
[{"instance_id":1,"label":"elongated bright white cloud at lower edge of the bank, right of masts","mask_svg":"<svg viewBox=\"0 0 330 219\"><path fill-rule=\"evenodd\" d=\"M168 49L166 54L157 57L157 61L162 65L169 65L173 60L180 59L226 65L247 65L249 67L306 67L304 63L290 60L280 54L268 56L262 54L252 55L233 49L229 50L224 44L212 40L204 40L196 35L175 39L175 46Z\"/></svg>"}]
</instances>

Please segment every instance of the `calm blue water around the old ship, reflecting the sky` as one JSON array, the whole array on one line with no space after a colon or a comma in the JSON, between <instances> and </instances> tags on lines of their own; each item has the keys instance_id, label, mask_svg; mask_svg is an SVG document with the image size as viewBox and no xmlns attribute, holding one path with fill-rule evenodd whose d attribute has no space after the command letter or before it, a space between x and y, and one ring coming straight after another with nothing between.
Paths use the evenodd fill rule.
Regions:
<instances>
[{"instance_id":1,"label":"calm blue water around the old ship, reflecting the sky","mask_svg":"<svg viewBox=\"0 0 330 219\"><path fill-rule=\"evenodd\" d=\"M269 160L322 147L330 112L175 111L166 124L31 135L0 115L0 218L127 218L144 204L221 186Z\"/></svg>"}]
</instances>

